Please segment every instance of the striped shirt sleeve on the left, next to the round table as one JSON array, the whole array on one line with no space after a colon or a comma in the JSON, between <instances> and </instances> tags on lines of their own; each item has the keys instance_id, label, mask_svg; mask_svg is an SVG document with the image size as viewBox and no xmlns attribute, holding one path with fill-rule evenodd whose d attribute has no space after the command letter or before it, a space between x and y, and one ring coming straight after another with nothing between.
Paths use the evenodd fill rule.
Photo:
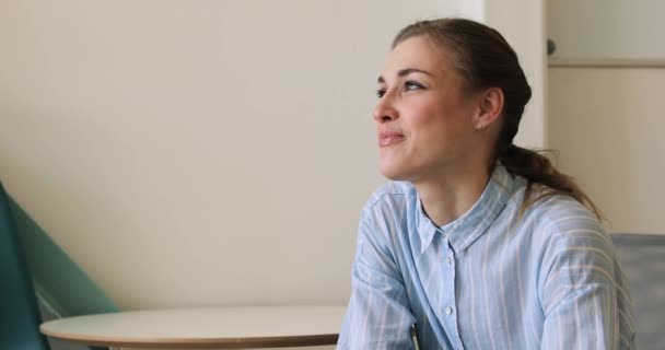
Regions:
<instances>
[{"instance_id":1,"label":"striped shirt sleeve on the left, next to the round table","mask_svg":"<svg viewBox=\"0 0 665 350\"><path fill-rule=\"evenodd\" d=\"M351 271L351 298L337 349L415 349L410 329L416 318L387 237L389 232L363 215Z\"/></svg>"}]
</instances>

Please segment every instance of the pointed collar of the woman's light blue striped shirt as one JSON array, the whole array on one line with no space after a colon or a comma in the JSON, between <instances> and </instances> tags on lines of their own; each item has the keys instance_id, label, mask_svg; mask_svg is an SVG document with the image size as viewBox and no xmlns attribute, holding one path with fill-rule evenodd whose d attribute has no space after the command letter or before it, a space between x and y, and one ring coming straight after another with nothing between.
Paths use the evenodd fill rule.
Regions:
<instances>
[{"instance_id":1,"label":"pointed collar of the woman's light blue striped shirt","mask_svg":"<svg viewBox=\"0 0 665 350\"><path fill-rule=\"evenodd\" d=\"M463 252L480 237L510 198L514 179L505 167L497 165L480 198L471 209L454 221L438 228L425 214L420 197L418 200L417 228L420 236L420 254L430 246L436 232L444 234L456 253Z\"/></svg>"}]
</instances>

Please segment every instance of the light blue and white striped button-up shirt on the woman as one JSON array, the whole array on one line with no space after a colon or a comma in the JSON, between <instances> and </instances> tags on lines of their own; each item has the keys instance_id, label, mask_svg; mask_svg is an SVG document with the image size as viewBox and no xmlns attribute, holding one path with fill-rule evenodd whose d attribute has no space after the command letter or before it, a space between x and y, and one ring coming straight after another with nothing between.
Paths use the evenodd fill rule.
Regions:
<instances>
[{"instance_id":1,"label":"light blue and white striped button-up shirt on the woman","mask_svg":"<svg viewBox=\"0 0 665 350\"><path fill-rule=\"evenodd\" d=\"M526 180L497 166L464 215L436 228L416 188L362 211L337 349L630 349L627 282L598 220L568 196L522 217Z\"/></svg>"}]
</instances>

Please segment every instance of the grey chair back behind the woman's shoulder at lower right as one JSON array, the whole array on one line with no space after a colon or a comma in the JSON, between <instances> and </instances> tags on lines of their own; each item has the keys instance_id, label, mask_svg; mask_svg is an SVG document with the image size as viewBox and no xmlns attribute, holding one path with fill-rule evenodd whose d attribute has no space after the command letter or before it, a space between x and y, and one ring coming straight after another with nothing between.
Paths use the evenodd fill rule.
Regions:
<instances>
[{"instance_id":1,"label":"grey chair back behind the woman's shoulder at lower right","mask_svg":"<svg viewBox=\"0 0 665 350\"><path fill-rule=\"evenodd\" d=\"M665 349L665 235L610 235L630 287L635 348Z\"/></svg>"}]
</instances>

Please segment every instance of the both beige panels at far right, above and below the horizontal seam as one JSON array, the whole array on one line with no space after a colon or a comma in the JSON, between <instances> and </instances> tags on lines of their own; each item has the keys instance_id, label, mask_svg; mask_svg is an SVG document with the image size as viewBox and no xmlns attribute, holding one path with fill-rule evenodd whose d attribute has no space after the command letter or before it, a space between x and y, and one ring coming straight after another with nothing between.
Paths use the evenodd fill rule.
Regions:
<instances>
[{"instance_id":1,"label":"both beige panels at far right, above and below the horizontal seam","mask_svg":"<svg viewBox=\"0 0 665 350\"><path fill-rule=\"evenodd\" d=\"M607 217L610 232L665 233L665 46L662 1L548 1L552 56L567 63L661 68L549 69L549 147ZM579 60L582 58L582 60ZM618 60L617 60L618 59Z\"/></svg>"}]
</instances>

